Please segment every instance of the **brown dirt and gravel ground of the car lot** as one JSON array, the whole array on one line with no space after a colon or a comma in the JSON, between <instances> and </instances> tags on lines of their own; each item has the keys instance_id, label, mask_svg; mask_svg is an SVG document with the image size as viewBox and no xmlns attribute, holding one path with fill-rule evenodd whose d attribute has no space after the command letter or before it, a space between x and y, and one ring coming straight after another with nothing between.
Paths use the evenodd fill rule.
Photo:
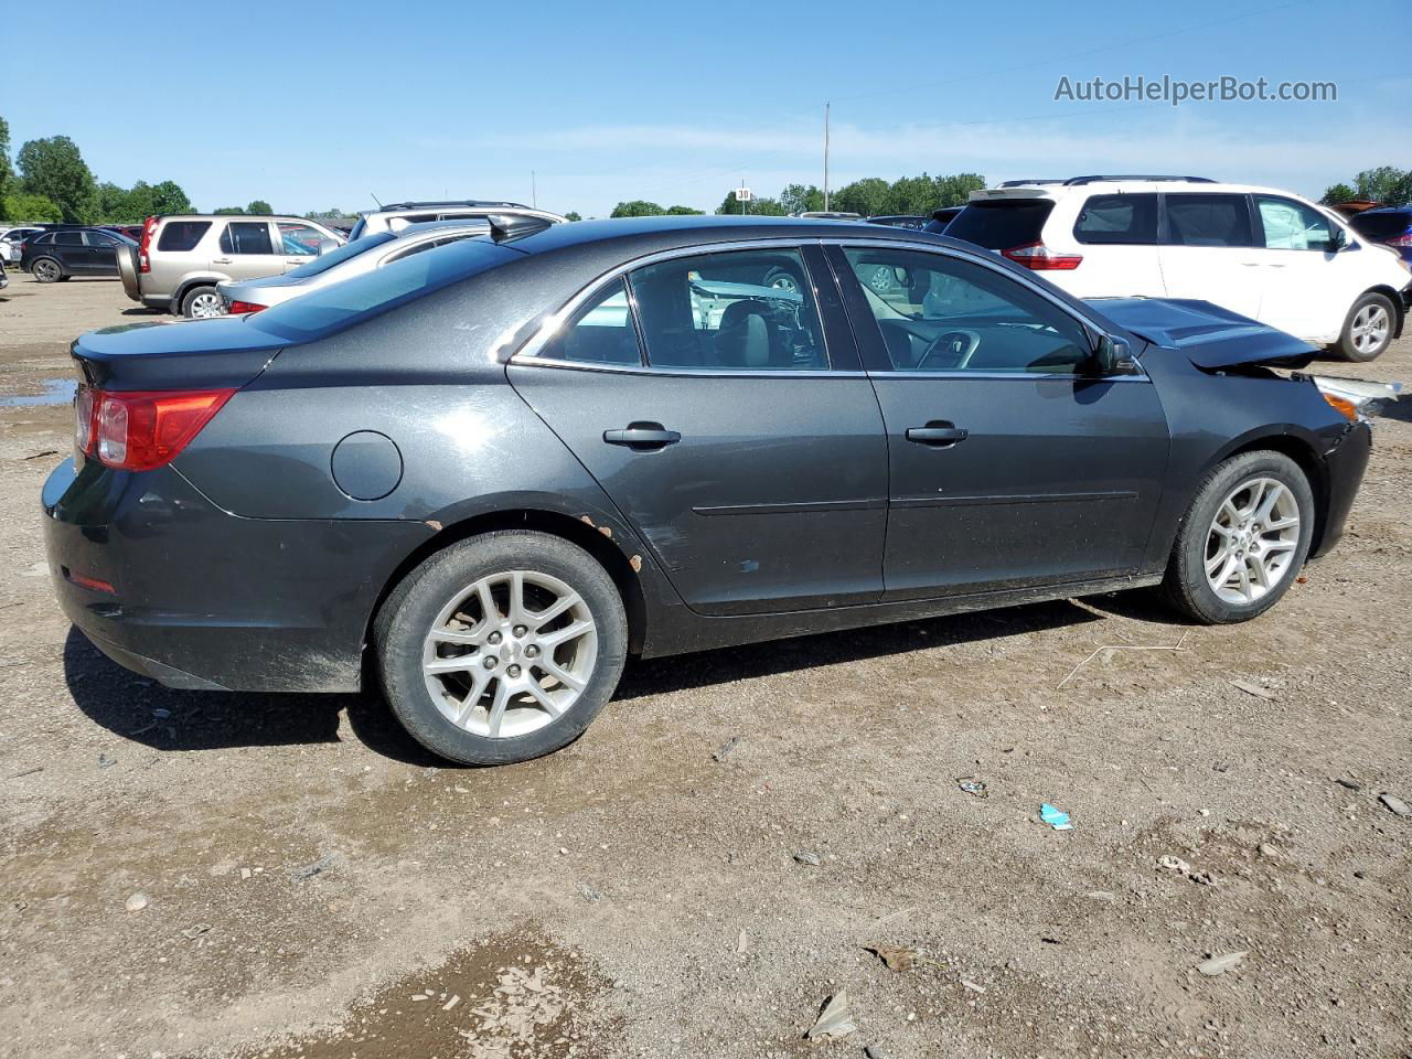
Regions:
<instances>
[{"instance_id":1,"label":"brown dirt and gravel ground of the car lot","mask_svg":"<svg viewBox=\"0 0 1412 1059\"><path fill-rule=\"evenodd\" d=\"M16 275L0 401L138 315ZM1326 370L1409 378L1412 339ZM68 405L0 407L0 1053L1404 1059L1409 405L1254 623L1130 594L637 664L579 743L483 771L374 698L96 654L40 535ZM840 990L856 1032L805 1041Z\"/></svg>"}]
</instances>

